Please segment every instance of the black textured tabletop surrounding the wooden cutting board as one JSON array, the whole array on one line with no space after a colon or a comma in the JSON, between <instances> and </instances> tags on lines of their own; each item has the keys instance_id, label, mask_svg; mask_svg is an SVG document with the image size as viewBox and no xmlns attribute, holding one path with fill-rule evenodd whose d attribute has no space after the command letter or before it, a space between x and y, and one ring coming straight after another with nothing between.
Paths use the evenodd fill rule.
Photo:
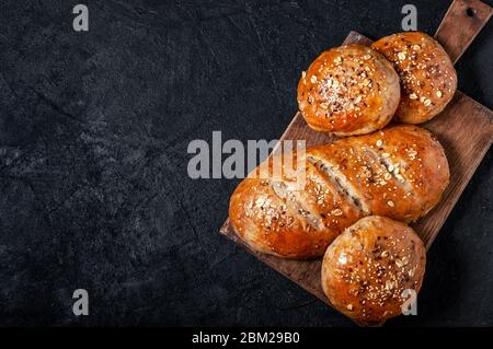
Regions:
<instances>
[{"instance_id":1,"label":"black textured tabletop surrounding the wooden cutting board","mask_svg":"<svg viewBox=\"0 0 493 349\"><path fill-rule=\"evenodd\" d=\"M353 326L218 234L238 181L190 179L186 148L279 137L300 71L351 30L400 31L406 2L2 0L0 324ZM412 3L433 34L450 1ZM492 25L457 66L490 108ZM390 326L493 325L492 196L490 151L429 251L419 316Z\"/></svg>"}]
</instances>

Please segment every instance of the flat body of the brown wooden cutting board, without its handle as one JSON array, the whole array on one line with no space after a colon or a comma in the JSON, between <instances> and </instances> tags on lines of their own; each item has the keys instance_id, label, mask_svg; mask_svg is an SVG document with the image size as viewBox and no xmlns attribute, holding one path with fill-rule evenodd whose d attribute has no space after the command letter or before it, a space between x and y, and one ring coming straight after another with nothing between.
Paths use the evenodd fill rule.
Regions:
<instances>
[{"instance_id":1,"label":"flat body of the brown wooden cutting board, without its handle","mask_svg":"<svg viewBox=\"0 0 493 349\"><path fill-rule=\"evenodd\" d=\"M456 4L454 3L454 5ZM443 28L442 31L446 30ZM371 40L359 33L351 32L344 40L344 44L349 43L370 45ZM429 248L484 154L490 149L493 140L493 113L458 91L440 115L420 126L431 130L438 137L445 148L451 173L450 185L445 191L443 200L426 217L412 224L416 233L423 239L426 248ZM297 113L280 137L280 142L283 140L306 140L307 147L311 147L331 142L333 138L310 129L300 113ZM279 148L276 147L273 153L278 151ZM322 291L320 282L321 259L287 260L256 253L241 242L228 220L220 229L220 232L308 292L331 305Z\"/></svg>"}]
</instances>

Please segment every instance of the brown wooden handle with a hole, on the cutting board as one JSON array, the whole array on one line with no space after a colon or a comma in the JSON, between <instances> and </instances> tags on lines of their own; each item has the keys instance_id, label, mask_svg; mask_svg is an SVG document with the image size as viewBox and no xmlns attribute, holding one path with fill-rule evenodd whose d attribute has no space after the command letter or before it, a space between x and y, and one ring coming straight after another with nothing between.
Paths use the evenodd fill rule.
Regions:
<instances>
[{"instance_id":1,"label":"brown wooden handle with a hole, on the cutting board","mask_svg":"<svg viewBox=\"0 0 493 349\"><path fill-rule=\"evenodd\" d=\"M454 63L481 32L492 13L493 9L479 0L454 0L435 34Z\"/></svg>"}]
</instances>

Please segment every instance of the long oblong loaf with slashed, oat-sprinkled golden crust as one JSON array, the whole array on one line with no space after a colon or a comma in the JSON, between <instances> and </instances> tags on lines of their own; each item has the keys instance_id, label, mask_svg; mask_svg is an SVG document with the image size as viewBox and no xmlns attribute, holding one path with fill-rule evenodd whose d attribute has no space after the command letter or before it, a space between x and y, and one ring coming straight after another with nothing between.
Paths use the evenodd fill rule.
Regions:
<instances>
[{"instance_id":1,"label":"long oblong loaf with slashed, oat-sprinkled golden crust","mask_svg":"<svg viewBox=\"0 0 493 349\"><path fill-rule=\"evenodd\" d=\"M404 222L423 217L449 181L439 142L410 125L309 148L298 161L302 167L276 179L260 178L256 168L231 196L231 225L253 249L285 258L321 256L365 216ZM306 183L297 187L300 168Z\"/></svg>"}]
</instances>

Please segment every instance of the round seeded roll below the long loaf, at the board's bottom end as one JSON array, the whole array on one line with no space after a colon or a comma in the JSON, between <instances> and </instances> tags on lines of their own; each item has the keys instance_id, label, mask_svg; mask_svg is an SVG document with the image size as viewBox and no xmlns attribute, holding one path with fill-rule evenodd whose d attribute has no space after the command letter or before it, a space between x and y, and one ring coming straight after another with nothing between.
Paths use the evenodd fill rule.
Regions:
<instances>
[{"instance_id":1,"label":"round seeded roll below the long loaf, at the board's bottom end","mask_svg":"<svg viewBox=\"0 0 493 349\"><path fill-rule=\"evenodd\" d=\"M348 317L362 325L380 325L402 313L411 296L404 290L420 291L425 264L426 249L410 226L369 216L347 228L326 249L322 287Z\"/></svg>"}]
</instances>

